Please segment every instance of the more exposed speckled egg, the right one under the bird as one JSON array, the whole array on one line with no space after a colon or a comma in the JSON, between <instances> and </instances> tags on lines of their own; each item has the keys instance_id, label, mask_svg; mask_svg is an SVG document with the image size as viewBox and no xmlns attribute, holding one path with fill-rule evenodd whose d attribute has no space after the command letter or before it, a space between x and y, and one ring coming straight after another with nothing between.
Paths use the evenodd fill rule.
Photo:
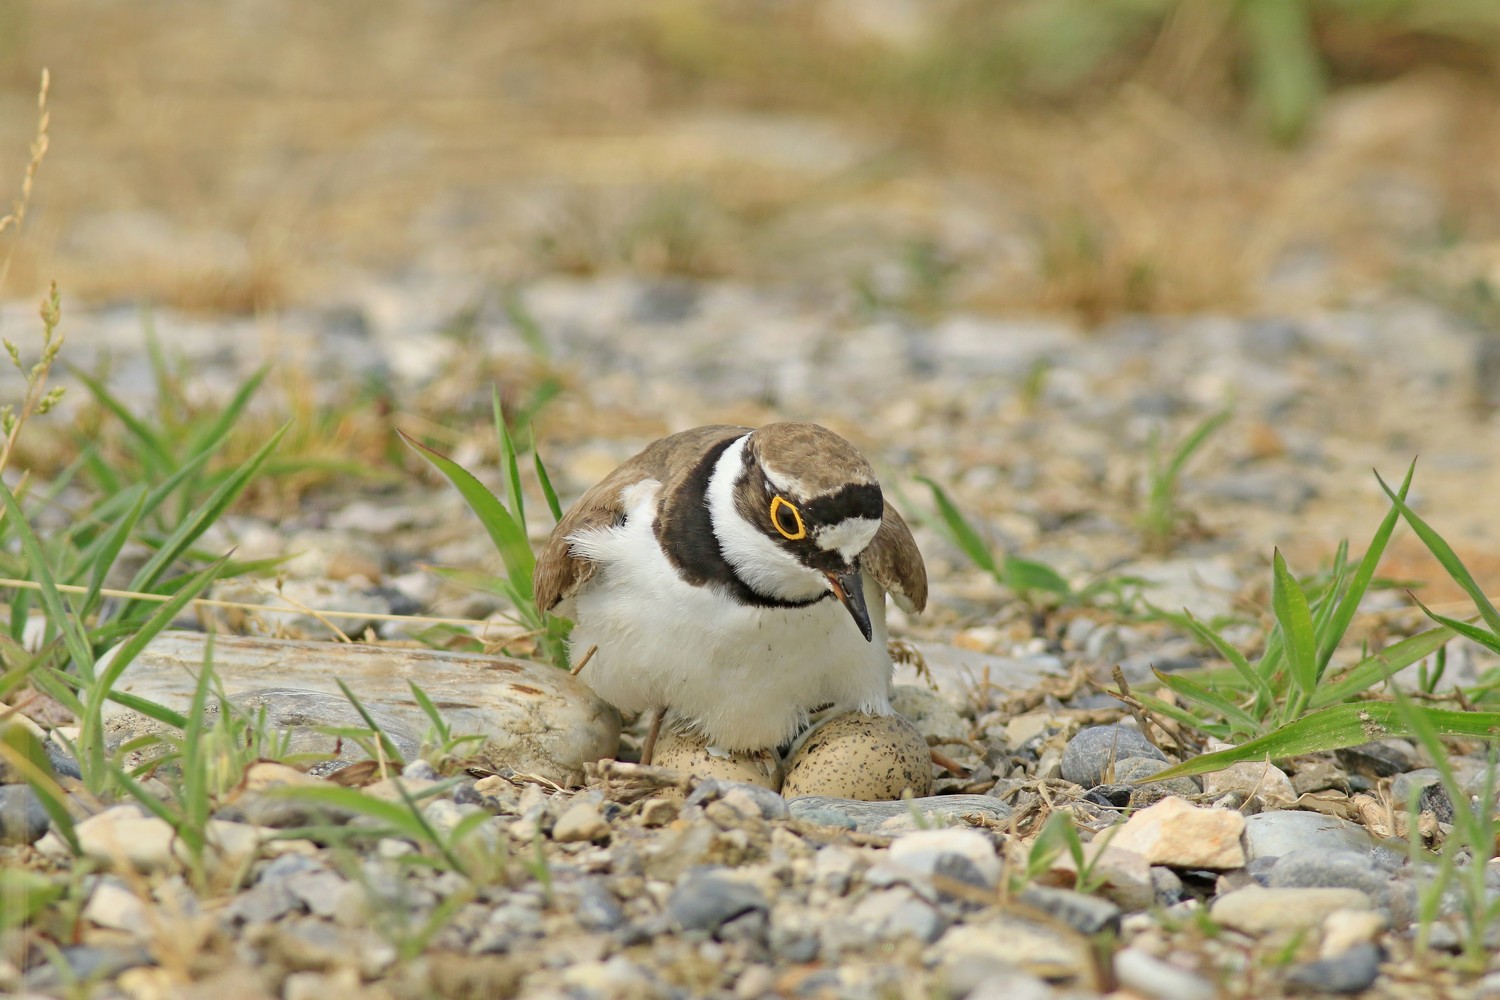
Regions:
<instances>
[{"instance_id":1,"label":"more exposed speckled egg, the right one under the bird","mask_svg":"<svg viewBox=\"0 0 1500 1000\"><path fill-rule=\"evenodd\" d=\"M900 715L850 712L818 727L786 762L782 795L836 795L879 802L932 795L927 741Z\"/></svg>"}]
</instances>

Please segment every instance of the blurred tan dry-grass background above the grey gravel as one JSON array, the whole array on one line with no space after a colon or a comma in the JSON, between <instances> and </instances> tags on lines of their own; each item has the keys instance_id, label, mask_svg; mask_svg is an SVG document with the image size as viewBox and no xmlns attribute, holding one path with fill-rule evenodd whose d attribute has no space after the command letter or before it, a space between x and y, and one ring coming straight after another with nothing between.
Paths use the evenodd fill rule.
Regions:
<instances>
[{"instance_id":1,"label":"blurred tan dry-grass background above the grey gravel","mask_svg":"<svg viewBox=\"0 0 1500 1000\"><path fill-rule=\"evenodd\" d=\"M684 276L922 312L1492 322L1494 0L9 0L0 297Z\"/></svg>"}]
</instances>

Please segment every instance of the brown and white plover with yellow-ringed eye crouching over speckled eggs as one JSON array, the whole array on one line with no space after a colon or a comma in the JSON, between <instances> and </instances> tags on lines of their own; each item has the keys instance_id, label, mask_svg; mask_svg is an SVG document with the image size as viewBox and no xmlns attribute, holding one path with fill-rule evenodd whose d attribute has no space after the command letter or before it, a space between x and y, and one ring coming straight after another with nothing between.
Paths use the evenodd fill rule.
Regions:
<instances>
[{"instance_id":1,"label":"brown and white plover with yellow-ringed eye crouching over speckled eggs","mask_svg":"<svg viewBox=\"0 0 1500 1000\"><path fill-rule=\"evenodd\" d=\"M891 714L885 595L927 603L910 529L870 463L813 423L662 438L585 492L543 547L537 607L573 621L580 678L711 748L784 745Z\"/></svg>"}]
</instances>

